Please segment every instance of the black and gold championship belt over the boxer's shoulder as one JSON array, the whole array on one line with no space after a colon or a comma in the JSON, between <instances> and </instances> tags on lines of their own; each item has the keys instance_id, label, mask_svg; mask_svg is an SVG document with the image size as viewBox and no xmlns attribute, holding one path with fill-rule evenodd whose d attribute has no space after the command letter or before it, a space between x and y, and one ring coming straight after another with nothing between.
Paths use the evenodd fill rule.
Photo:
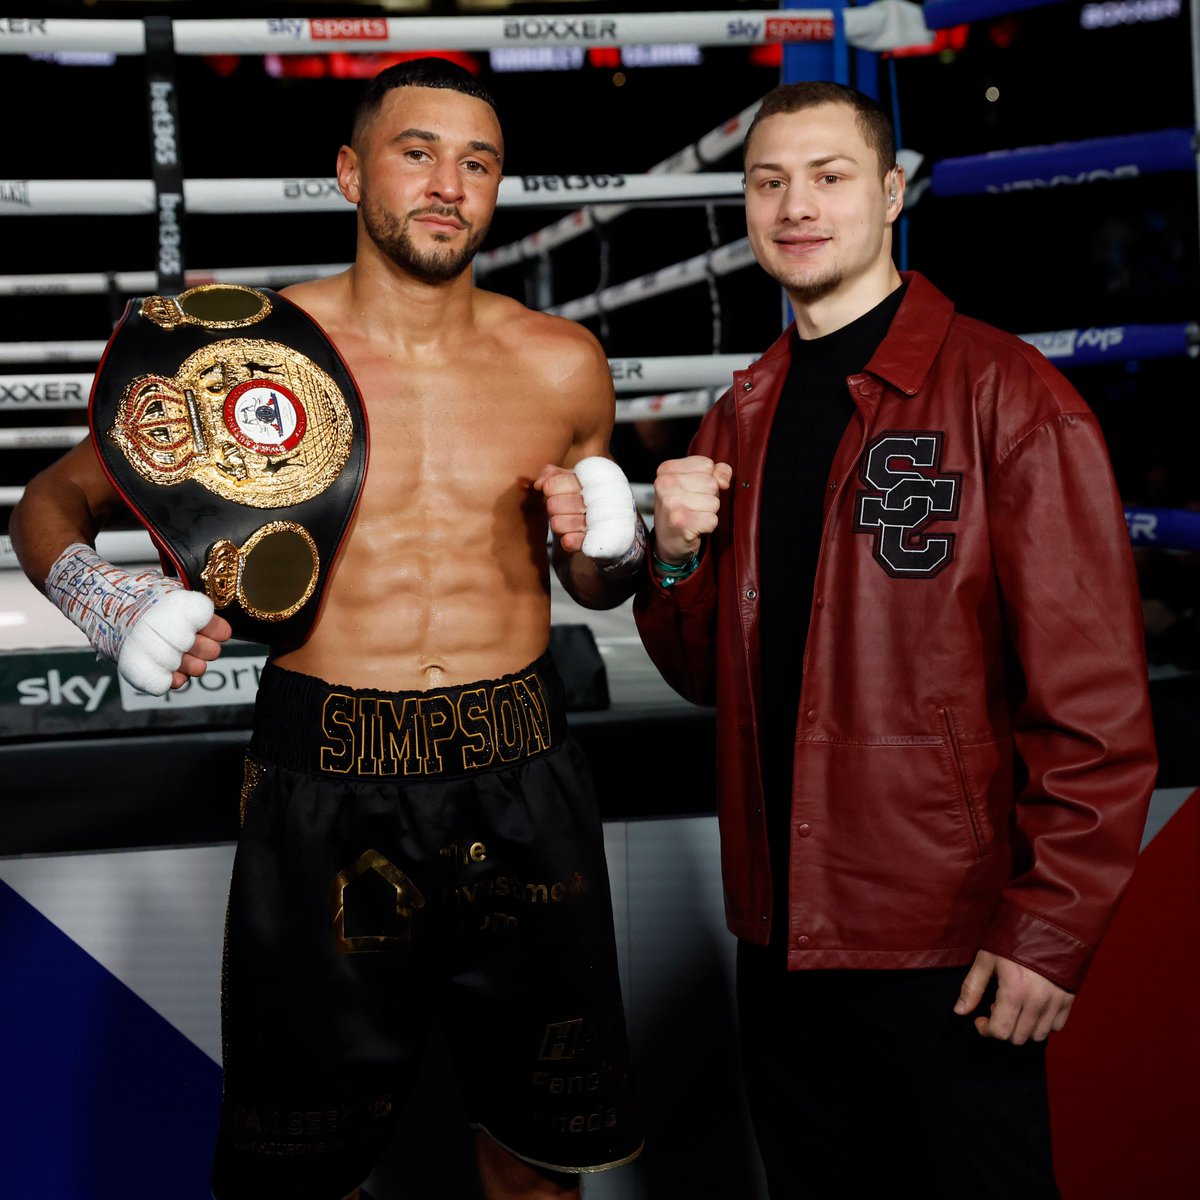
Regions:
<instances>
[{"instance_id":1,"label":"black and gold championship belt over the boxer's shoulder","mask_svg":"<svg viewBox=\"0 0 1200 1200\"><path fill-rule=\"evenodd\" d=\"M266 288L131 300L88 422L163 569L234 637L304 642L367 463L361 396L316 322Z\"/></svg>"}]
</instances>

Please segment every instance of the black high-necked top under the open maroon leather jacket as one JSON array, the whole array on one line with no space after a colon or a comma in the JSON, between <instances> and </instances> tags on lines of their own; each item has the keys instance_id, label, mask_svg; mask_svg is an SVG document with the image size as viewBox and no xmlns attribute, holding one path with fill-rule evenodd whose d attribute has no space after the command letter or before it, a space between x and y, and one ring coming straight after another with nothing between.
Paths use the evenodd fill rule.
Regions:
<instances>
[{"instance_id":1,"label":"black high-necked top under the open maroon leather jacket","mask_svg":"<svg viewBox=\"0 0 1200 1200\"><path fill-rule=\"evenodd\" d=\"M786 863L792 755L804 644L829 468L854 416L846 377L858 374L900 307L896 288L870 312L824 337L792 334L792 364L767 443L758 526L762 636L762 764L772 857ZM776 872L776 878L779 878ZM776 896L782 889L776 889Z\"/></svg>"}]
</instances>

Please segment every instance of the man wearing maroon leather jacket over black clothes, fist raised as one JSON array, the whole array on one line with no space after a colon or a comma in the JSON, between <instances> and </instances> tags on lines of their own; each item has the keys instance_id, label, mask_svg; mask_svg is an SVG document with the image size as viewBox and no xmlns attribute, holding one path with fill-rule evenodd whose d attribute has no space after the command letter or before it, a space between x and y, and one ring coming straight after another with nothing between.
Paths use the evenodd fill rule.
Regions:
<instances>
[{"instance_id":1,"label":"man wearing maroon leather jacket over black clothes, fist raised","mask_svg":"<svg viewBox=\"0 0 1200 1200\"><path fill-rule=\"evenodd\" d=\"M1085 402L893 265L894 163L859 94L767 97L746 223L796 324L660 467L635 612L664 677L716 706L772 1196L1054 1196L1044 1040L1128 883L1156 773L1138 586ZM809 362L840 364L838 395L810 388ZM845 404L846 424L809 472L811 602L802 588L773 821L764 730L784 701L764 692L780 650L763 581L803 550L808 476L780 474L820 442L828 413L805 401Z\"/></svg>"}]
</instances>

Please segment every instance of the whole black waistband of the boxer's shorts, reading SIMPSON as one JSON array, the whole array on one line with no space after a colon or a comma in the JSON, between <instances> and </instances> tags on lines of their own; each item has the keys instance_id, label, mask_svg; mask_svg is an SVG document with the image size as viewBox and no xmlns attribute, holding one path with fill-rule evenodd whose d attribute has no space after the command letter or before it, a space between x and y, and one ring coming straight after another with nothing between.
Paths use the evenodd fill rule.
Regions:
<instances>
[{"instance_id":1,"label":"whole black waistband of the boxer's shorts, reading SIMPSON","mask_svg":"<svg viewBox=\"0 0 1200 1200\"><path fill-rule=\"evenodd\" d=\"M418 782L511 767L565 739L548 652L499 679L428 691L348 688L268 662L250 752L325 775Z\"/></svg>"}]
</instances>

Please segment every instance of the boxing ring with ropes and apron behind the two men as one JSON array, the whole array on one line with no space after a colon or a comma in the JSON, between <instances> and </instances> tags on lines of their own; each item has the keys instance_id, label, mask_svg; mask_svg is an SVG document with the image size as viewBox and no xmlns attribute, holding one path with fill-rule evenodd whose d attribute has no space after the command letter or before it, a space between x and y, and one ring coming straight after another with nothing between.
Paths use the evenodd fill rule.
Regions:
<instances>
[{"instance_id":1,"label":"boxing ring with ropes and apron behind the two men","mask_svg":"<svg viewBox=\"0 0 1200 1200\"><path fill-rule=\"evenodd\" d=\"M155 247L151 270L113 263L103 271L0 275L0 305L44 310L47 329L58 335L61 323L50 312L67 298L91 298L112 317L126 298L154 290L203 282L283 287L344 269L344 262L192 265L193 216L306 216L344 224L353 210L332 179L301 170L280 178L186 174L187 142L179 132L190 97L176 66L188 56L335 47L364 54L547 43L584 50L678 42L781 46L782 79L835 78L881 97L888 79L894 83L904 70L889 50L929 42L941 28L1032 6L928 0L920 8L882 0L859 8L545 18L0 18L0 55L144 58L152 145L163 151L148 163L145 179L0 180L0 217L11 218L0 229L12 238L22 235L24 217L137 220L154 227ZM738 152L756 104L697 128L674 114L684 144L641 173L521 174L502 184L491 241L502 215L520 215L521 232L479 256L479 282L580 320L606 346L610 334L638 344L628 341L631 329L644 338L644 354L610 355L618 396L614 449L632 446L618 437L647 422L692 428L732 372L779 328L778 289L767 296L746 239L731 234L742 197ZM919 149L902 146L907 203L916 211L926 197L1086 191L1148 174L1195 173L1194 125L931 163ZM904 132L899 120L898 130ZM703 218L703 250L648 271L617 270L623 239L636 239L631 222L682 210ZM920 269L919 260L908 262L907 220L901 217L898 230L898 262ZM344 244L352 245L349 233ZM575 265L581 257L590 260L587 274ZM752 336L739 324L748 296L756 298L756 312L768 314ZM706 350L658 353L650 340L655 306L661 311L684 298L698 314ZM1016 331L1068 372L1200 353L1200 312L1152 324L1136 318L1130 312L1126 324ZM86 434L91 371L108 331L98 325L78 338L0 342L6 514L38 463ZM1084 384L1080 390L1086 397ZM631 478L649 514L650 475ZM1200 552L1198 510L1129 503L1126 517L1140 557ZM149 539L134 528L101 534L97 548L114 562L155 562ZM712 744L713 714L684 704L661 683L641 650L628 604L611 613L584 612L554 581L552 617L572 689L572 730L602 797L647 1110L647 1154L588 1178L584 1194L588 1200L718 1193L757 1200L764 1192L736 1070L733 948L721 910L712 770L697 752ZM0 930L8 964L0 977L0 1009L23 1031L0 1039L0 1066L6 1080L30 1081L0 1092L0 1124L13 1134L6 1164L13 1195L107 1200L134 1183L179 1200L208 1194L220 1088L216 970L241 751L264 659L260 647L233 643L203 680L181 692L136 692L34 593L7 536L0 538L0 772L8 781L0 821ZM1189 683L1190 674L1160 671L1165 684ZM671 787L631 782L631 758L662 746L673 749ZM1200 1174L1189 1127L1195 1098L1184 1081L1200 1063L1194 1046L1174 1045L1171 1031L1150 1015L1157 1013L1152 996L1186 994L1198 982L1194 950L1178 952L1181 942L1192 937L1194 947L1200 936L1200 772L1187 774L1194 751L1178 762L1154 794L1144 868L1072 1025L1052 1043L1067 1200L1124 1198L1130 1178L1142 1187L1160 1183L1163 1194L1172 1194L1176 1181L1193 1186ZM1170 913L1165 925L1164 913ZM1114 1049L1118 1040L1121 1049ZM469 1158L469 1145L456 1140L457 1100L438 1064L434 1045L410 1118L368 1183L374 1200L424 1194L422 1184L448 1200L475 1194L468 1172L454 1165L456 1157ZM1124 1152L1099 1153L1097 1129L1111 1130L1100 1140L1109 1147L1123 1142ZM708 1152L697 1156L701 1140ZM64 1154L64 1146L71 1152Z\"/></svg>"}]
</instances>

